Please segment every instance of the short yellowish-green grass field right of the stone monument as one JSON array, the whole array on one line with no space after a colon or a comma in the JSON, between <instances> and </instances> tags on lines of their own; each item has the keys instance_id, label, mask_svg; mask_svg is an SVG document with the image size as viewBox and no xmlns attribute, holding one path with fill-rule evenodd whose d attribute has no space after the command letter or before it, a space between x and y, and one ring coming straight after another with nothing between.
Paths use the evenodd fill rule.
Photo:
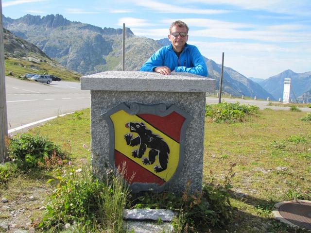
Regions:
<instances>
[{"instance_id":1,"label":"short yellowish-green grass field right of the stone monument","mask_svg":"<svg viewBox=\"0 0 311 233\"><path fill-rule=\"evenodd\" d=\"M230 232L295 232L273 220L272 210L278 201L311 200L311 124L302 116L267 109L243 123L206 123L204 179L211 170L220 183L237 163L231 204L239 215Z\"/></svg>"}]
</instances>

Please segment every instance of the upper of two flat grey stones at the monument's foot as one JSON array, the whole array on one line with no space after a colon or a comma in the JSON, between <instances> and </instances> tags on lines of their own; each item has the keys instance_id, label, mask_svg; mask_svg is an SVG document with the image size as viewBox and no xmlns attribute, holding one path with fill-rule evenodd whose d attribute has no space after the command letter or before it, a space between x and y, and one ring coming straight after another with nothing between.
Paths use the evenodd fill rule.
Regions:
<instances>
[{"instance_id":1,"label":"upper of two flat grey stones at the monument's foot","mask_svg":"<svg viewBox=\"0 0 311 233\"><path fill-rule=\"evenodd\" d=\"M130 220L158 220L159 218L162 221L172 221L173 216L175 216L172 210L165 209L133 209L133 210L124 210L123 218Z\"/></svg>"}]
</instances>

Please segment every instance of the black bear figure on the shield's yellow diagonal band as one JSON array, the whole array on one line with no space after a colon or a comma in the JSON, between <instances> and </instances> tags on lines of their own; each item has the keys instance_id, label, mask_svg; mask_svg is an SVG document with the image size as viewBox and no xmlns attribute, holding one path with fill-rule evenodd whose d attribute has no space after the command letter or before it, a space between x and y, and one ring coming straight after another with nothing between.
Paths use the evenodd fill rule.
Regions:
<instances>
[{"instance_id":1,"label":"black bear figure on the shield's yellow diagonal band","mask_svg":"<svg viewBox=\"0 0 311 233\"><path fill-rule=\"evenodd\" d=\"M125 127L129 128L130 132L138 133L138 136L135 138L132 138L133 135L131 133L124 135L127 145L131 147L139 145L138 150L132 151L132 156L134 158L141 158L148 147L150 148L148 158L144 157L142 163L144 165L154 164L155 156L158 155L160 167L155 166L154 170L155 172L164 171L167 168L170 153L167 143L158 135L153 134L151 130L146 129L144 123L129 122L125 124Z\"/></svg>"}]
</instances>

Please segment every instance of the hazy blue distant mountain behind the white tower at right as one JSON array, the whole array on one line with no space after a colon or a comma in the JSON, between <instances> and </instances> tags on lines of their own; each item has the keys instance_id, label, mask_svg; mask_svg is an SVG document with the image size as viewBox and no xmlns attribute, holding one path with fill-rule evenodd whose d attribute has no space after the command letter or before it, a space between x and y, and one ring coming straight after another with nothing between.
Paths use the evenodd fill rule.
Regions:
<instances>
[{"instance_id":1,"label":"hazy blue distant mountain behind the white tower at right","mask_svg":"<svg viewBox=\"0 0 311 233\"><path fill-rule=\"evenodd\" d=\"M294 99L294 94L298 97L311 89L311 72L299 74L290 69L264 80L260 85L271 93L275 99L283 98L285 78L291 78L291 99Z\"/></svg>"}]
</instances>

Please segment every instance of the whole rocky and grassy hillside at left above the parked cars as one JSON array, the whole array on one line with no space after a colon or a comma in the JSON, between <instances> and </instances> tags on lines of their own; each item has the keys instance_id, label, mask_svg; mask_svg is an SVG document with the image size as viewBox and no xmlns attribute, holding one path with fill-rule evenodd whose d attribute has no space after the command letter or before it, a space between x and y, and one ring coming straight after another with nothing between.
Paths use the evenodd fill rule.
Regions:
<instances>
[{"instance_id":1,"label":"whole rocky and grassy hillside at left above the parked cars","mask_svg":"<svg viewBox=\"0 0 311 233\"><path fill-rule=\"evenodd\" d=\"M8 75L23 76L25 73L54 74L64 80L79 80L81 74L59 65L35 45L3 29L5 71Z\"/></svg>"}]
</instances>

